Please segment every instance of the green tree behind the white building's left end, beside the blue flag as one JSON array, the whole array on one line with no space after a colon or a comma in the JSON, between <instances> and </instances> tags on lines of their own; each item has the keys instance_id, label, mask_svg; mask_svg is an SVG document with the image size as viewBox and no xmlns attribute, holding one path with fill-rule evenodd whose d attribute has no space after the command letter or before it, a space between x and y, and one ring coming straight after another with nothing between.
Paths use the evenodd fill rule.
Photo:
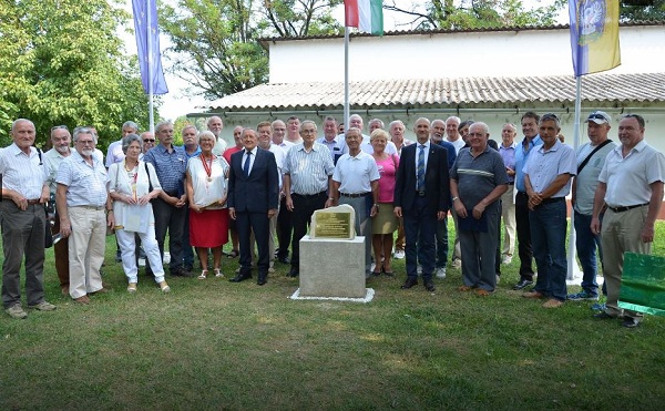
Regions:
<instances>
[{"instance_id":1,"label":"green tree behind the white building's left end, beside the blue flag","mask_svg":"<svg viewBox=\"0 0 665 411\"><path fill-rule=\"evenodd\" d=\"M160 27L172 42L171 72L217 99L264 83L263 37L339 32L330 7L341 0L178 0L162 4Z\"/></svg>"}]
</instances>

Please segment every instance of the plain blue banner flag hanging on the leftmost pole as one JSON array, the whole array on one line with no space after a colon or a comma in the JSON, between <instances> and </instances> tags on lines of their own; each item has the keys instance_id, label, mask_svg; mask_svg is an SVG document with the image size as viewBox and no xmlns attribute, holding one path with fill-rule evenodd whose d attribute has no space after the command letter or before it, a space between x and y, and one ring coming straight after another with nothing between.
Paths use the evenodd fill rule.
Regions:
<instances>
[{"instance_id":1,"label":"plain blue banner flag hanging on the leftmost pole","mask_svg":"<svg viewBox=\"0 0 665 411\"><path fill-rule=\"evenodd\" d=\"M166 94L168 88L162 69L156 0L132 0L132 9L143 90L150 94L152 85L153 94Z\"/></svg>"}]
</instances>

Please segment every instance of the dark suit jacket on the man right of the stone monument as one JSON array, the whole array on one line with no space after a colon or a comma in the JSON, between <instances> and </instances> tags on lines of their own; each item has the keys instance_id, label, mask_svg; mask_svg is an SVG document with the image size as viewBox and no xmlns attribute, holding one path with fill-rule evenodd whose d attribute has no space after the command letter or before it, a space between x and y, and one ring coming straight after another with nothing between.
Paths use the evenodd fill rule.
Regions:
<instances>
[{"instance_id":1,"label":"dark suit jacket on the man right of the stone monument","mask_svg":"<svg viewBox=\"0 0 665 411\"><path fill-rule=\"evenodd\" d=\"M395 184L396 207L409 210L416 201L416 152L420 144L402 148ZM450 178L448 174L448 151L430 143L427 168L424 171L424 193L427 213L447 212L450 207Z\"/></svg>"}]
</instances>

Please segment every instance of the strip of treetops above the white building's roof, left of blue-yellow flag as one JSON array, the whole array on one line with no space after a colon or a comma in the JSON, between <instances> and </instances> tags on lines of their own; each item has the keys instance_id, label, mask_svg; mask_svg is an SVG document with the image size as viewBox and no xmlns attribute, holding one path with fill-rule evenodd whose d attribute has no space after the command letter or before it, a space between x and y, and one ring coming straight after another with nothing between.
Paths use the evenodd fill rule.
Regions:
<instances>
[{"instance_id":1,"label":"strip of treetops above the white building's roof, left of blue-yellow flag","mask_svg":"<svg viewBox=\"0 0 665 411\"><path fill-rule=\"evenodd\" d=\"M566 3L556 0L551 6L528 10L522 0L427 0L405 8L387 0L383 9L411 16L407 24L416 30L460 30L554 24L556 13Z\"/></svg>"}]
</instances>

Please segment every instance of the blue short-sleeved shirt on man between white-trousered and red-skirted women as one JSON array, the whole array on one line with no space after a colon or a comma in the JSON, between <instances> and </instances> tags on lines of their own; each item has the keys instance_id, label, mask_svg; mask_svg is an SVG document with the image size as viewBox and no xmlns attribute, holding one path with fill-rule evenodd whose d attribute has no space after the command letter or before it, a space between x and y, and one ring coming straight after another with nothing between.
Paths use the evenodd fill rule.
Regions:
<instances>
[{"instance_id":1,"label":"blue short-sleeved shirt on man between white-trousered and red-skirted women","mask_svg":"<svg viewBox=\"0 0 665 411\"><path fill-rule=\"evenodd\" d=\"M187 167L187 155L183 147L171 146L173 150L168 150L163 145L156 145L152 147L143 161L152 164L157 173L157 178L162 183L162 189L166 194L182 195L185 192L184 178L185 171Z\"/></svg>"}]
</instances>

